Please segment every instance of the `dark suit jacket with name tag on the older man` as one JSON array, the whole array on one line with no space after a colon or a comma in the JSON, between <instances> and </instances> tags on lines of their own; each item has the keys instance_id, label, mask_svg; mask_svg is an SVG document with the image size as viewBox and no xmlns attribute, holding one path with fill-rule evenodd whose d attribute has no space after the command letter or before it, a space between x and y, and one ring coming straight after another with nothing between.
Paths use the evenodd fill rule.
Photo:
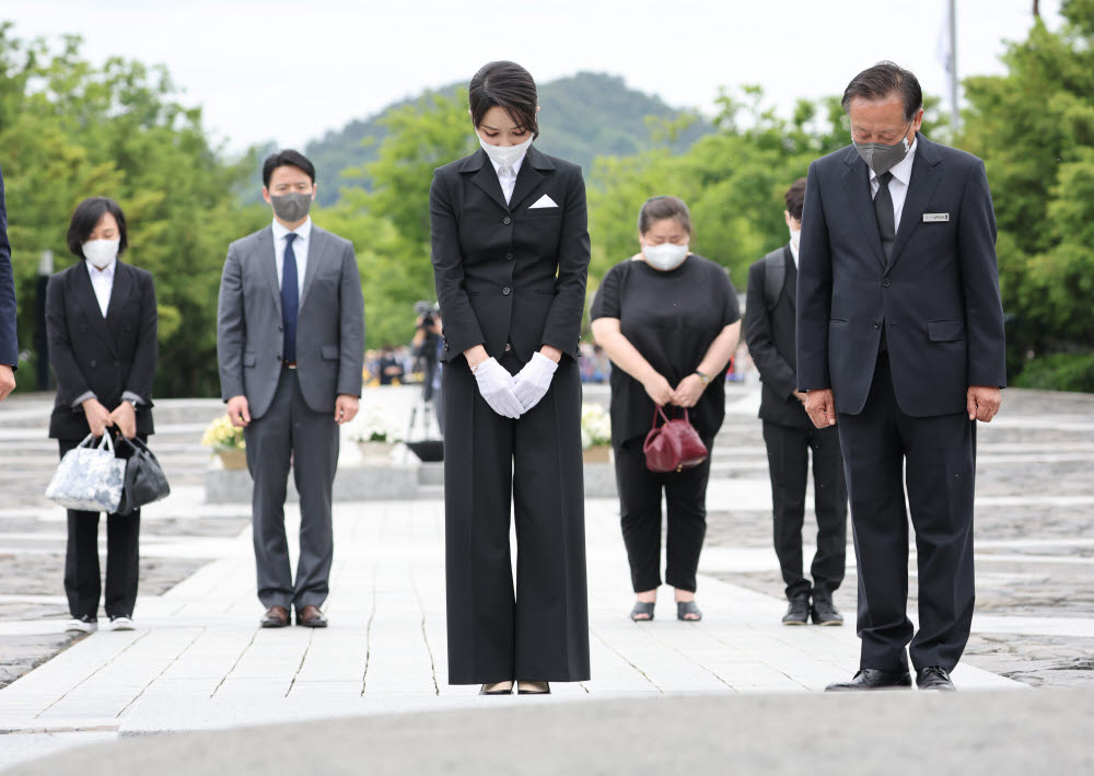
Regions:
<instances>
[{"instance_id":1,"label":"dark suit jacket with name tag on the older man","mask_svg":"<svg viewBox=\"0 0 1094 776\"><path fill-rule=\"evenodd\" d=\"M984 162L918 136L886 266L853 146L810 165L798 275L798 385L862 412L882 326L900 409L965 412L969 385L1006 384L996 217Z\"/></svg>"}]
</instances>

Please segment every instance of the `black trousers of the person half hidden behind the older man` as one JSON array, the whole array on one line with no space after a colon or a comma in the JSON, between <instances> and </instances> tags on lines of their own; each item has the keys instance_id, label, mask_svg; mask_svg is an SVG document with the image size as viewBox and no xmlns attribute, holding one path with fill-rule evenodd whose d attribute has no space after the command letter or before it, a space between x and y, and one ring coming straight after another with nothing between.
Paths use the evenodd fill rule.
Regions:
<instances>
[{"instance_id":1,"label":"black trousers of the person half hidden behind the older man","mask_svg":"<svg viewBox=\"0 0 1094 776\"><path fill-rule=\"evenodd\" d=\"M847 555L847 486L839 431L813 426L794 428L765 420L764 442L771 473L775 553L787 583L787 598L811 593L818 598L831 598L843 581ZM813 452L813 506L817 518L812 586L802 572L802 526L805 523L810 451Z\"/></svg>"}]
</instances>

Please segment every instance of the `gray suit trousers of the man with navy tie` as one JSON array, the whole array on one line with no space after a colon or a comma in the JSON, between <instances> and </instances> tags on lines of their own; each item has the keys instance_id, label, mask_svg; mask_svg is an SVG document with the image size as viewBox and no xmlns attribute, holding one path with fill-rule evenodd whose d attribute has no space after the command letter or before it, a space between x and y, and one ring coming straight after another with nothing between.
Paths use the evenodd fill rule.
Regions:
<instances>
[{"instance_id":1,"label":"gray suit trousers of the man with navy tie","mask_svg":"<svg viewBox=\"0 0 1094 776\"><path fill-rule=\"evenodd\" d=\"M316 413L300 393L295 370L284 368L266 414L243 431L247 468L255 482L252 525L258 600L298 610L327 599L334 534L330 501L338 465L334 413ZM289 468L300 494L300 558L293 581L284 534Z\"/></svg>"}]
</instances>

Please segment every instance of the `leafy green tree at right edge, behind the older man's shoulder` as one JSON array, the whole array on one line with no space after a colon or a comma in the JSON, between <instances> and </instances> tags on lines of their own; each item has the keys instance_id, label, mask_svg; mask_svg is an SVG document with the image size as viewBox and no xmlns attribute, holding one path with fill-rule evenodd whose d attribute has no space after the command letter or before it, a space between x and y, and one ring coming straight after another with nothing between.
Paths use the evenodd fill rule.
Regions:
<instances>
[{"instance_id":1,"label":"leafy green tree at right edge, behind the older man's shoulder","mask_svg":"<svg viewBox=\"0 0 1094 776\"><path fill-rule=\"evenodd\" d=\"M1005 76L965 82L961 142L991 184L1012 373L1094 349L1094 0L1061 13L1060 32L1038 19L1009 47Z\"/></svg>"}]
</instances>

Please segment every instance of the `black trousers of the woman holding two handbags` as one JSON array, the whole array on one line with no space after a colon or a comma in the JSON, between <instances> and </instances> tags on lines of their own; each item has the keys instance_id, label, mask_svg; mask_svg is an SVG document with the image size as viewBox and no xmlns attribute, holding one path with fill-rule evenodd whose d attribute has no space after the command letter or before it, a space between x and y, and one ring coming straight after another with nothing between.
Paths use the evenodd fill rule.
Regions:
<instances>
[{"instance_id":1,"label":"black trousers of the woman holding two handbags","mask_svg":"<svg viewBox=\"0 0 1094 776\"><path fill-rule=\"evenodd\" d=\"M109 431L107 431L109 432ZM148 437L139 435L140 440ZM60 456L80 444L79 439L59 439ZM129 451L118 451L128 458ZM100 512L68 510L68 547L65 553L65 594L69 613L80 619L98 617L103 580L98 566ZM106 516L106 615L131 617L137 605L137 580L140 571L138 544L140 510L132 514Z\"/></svg>"}]
</instances>

